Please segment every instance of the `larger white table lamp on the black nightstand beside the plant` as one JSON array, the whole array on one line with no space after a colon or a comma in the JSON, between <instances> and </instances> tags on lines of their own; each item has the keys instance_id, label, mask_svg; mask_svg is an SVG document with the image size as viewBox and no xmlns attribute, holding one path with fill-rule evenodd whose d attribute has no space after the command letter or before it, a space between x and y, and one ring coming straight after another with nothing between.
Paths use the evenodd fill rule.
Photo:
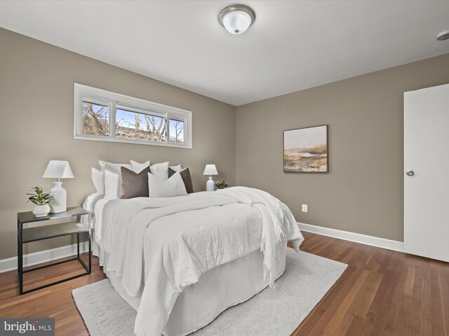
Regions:
<instances>
[{"instance_id":1,"label":"larger white table lamp on the black nightstand beside the plant","mask_svg":"<svg viewBox=\"0 0 449 336\"><path fill-rule=\"evenodd\" d=\"M48 192L53 197L53 203L50 204L50 212L58 214L67 210L67 192L62 188L60 179L73 179L72 169L68 161L51 160L43 172L43 178L56 179L53 182L53 188Z\"/></svg>"}]
</instances>

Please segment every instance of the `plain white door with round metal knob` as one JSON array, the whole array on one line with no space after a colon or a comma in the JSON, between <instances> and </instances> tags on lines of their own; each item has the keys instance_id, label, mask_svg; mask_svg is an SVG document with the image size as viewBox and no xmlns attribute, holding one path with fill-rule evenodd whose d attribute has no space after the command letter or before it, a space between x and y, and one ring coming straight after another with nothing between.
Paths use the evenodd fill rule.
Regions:
<instances>
[{"instance_id":1,"label":"plain white door with round metal knob","mask_svg":"<svg viewBox=\"0 0 449 336\"><path fill-rule=\"evenodd\" d=\"M404 250L449 261L449 84L404 93Z\"/></svg>"}]
</instances>

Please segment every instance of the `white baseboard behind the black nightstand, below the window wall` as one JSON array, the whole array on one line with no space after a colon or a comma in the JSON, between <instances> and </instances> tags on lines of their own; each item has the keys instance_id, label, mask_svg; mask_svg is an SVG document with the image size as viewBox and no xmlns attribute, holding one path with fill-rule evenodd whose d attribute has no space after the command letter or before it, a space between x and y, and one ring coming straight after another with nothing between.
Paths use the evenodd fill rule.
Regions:
<instances>
[{"instance_id":1,"label":"white baseboard behind the black nightstand, below the window wall","mask_svg":"<svg viewBox=\"0 0 449 336\"><path fill-rule=\"evenodd\" d=\"M88 242L83 241L79 244L80 252L88 251ZM40 264L60 258L66 258L76 255L76 244L51 248L50 250L28 253L23 255L23 267ZM17 257L0 260L0 273L17 269Z\"/></svg>"}]
</instances>

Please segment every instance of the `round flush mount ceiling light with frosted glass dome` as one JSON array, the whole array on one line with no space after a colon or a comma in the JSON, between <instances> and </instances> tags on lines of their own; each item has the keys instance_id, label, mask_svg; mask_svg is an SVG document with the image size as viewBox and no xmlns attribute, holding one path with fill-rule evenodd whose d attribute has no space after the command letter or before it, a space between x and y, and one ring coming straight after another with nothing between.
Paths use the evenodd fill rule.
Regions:
<instances>
[{"instance_id":1,"label":"round flush mount ceiling light with frosted glass dome","mask_svg":"<svg viewBox=\"0 0 449 336\"><path fill-rule=\"evenodd\" d=\"M254 11L244 5L232 5L223 9L219 15L220 24L231 34L242 34L253 24Z\"/></svg>"}]
</instances>

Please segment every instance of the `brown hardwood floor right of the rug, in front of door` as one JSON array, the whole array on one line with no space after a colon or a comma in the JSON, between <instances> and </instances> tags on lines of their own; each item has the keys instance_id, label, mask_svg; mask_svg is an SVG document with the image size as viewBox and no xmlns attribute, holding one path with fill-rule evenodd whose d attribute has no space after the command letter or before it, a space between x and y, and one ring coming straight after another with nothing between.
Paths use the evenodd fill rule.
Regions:
<instances>
[{"instance_id":1,"label":"brown hardwood floor right of the rug, in front of door","mask_svg":"<svg viewBox=\"0 0 449 336\"><path fill-rule=\"evenodd\" d=\"M293 336L449 336L447 262L307 232L304 237L302 251L348 268Z\"/></svg>"}]
</instances>

